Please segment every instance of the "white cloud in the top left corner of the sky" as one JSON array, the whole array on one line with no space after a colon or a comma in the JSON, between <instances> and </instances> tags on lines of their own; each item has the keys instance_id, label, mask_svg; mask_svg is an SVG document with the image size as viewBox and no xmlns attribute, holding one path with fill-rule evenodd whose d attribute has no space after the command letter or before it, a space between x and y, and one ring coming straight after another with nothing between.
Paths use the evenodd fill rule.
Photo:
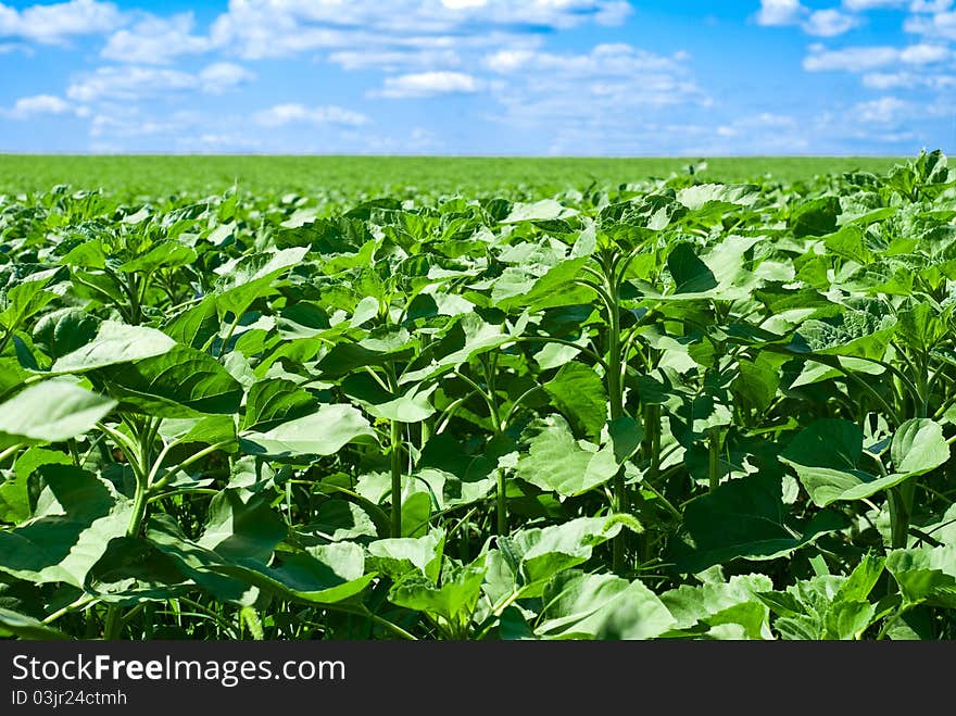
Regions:
<instances>
[{"instance_id":1,"label":"white cloud in the top left corner of the sky","mask_svg":"<svg viewBox=\"0 0 956 716\"><path fill-rule=\"evenodd\" d=\"M0 3L0 37L21 37L43 45L62 45L72 37L109 33L124 22L112 2L70 0L16 10Z\"/></svg>"}]
</instances>

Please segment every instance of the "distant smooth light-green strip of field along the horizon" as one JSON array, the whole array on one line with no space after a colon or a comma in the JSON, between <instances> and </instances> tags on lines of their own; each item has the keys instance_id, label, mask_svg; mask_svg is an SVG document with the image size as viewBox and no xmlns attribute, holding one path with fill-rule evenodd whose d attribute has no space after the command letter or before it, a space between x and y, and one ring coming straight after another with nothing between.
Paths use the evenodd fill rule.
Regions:
<instances>
[{"instance_id":1,"label":"distant smooth light-green strip of field along the horizon","mask_svg":"<svg viewBox=\"0 0 956 716\"><path fill-rule=\"evenodd\" d=\"M217 193L234 184L253 193L294 191L493 191L526 186L537 192L617 186L682 172L697 160L430 156L97 156L0 155L0 192L48 190L58 184L121 194ZM883 173L894 158L719 158L703 176L743 181L771 175L791 183L820 174Z\"/></svg>"}]
</instances>

